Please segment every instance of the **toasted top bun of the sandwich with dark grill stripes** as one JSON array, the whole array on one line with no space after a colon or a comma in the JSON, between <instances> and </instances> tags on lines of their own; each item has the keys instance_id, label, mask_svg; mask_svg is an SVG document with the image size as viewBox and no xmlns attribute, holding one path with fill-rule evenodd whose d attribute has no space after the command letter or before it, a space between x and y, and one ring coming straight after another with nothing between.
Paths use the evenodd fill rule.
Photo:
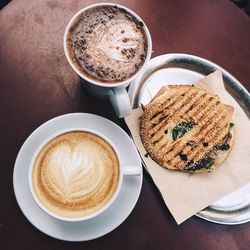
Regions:
<instances>
[{"instance_id":1,"label":"toasted top bun of the sandwich with dark grill stripes","mask_svg":"<svg viewBox=\"0 0 250 250\"><path fill-rule=\"evenodd\" d=\"M178 89L165 96L163 93L146 106L141 120L141 138L153 159L164 167L184 169L187 162L203 159L225 138L230 115L218 97L211 95L205 90L185 86L181 91ZM164 98L167 100L163 101ZM162 103L159 105L157 101ZM162 108L162 112L158 107ZM170 132L173 121L177 124L182 121L194 122L195 126L173 142ZM152 122L157 124L154 129L148 129ZM192 147L187 144L190 140L195 141ZM154 146L153 141L157 141ZM203 146L204 141L208 141L206 147ZM181 159L180 153L185 155L185 159L187 156L187 161Z\"/></svg>"}]
</instances>

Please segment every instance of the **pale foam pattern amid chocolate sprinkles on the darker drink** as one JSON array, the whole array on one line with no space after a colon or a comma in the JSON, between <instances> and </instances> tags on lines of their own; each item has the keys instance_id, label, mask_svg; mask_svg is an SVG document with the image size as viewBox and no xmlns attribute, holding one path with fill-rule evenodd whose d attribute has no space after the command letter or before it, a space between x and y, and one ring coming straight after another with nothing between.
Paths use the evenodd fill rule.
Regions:
<instances>
[{"instance_id":1,"label":"pale foam pattern amid chocolate sprinkles on the darker drink","mask_svg":"<svg viewBox=\"0 0 250 250\"><path fill-rule=\"evenodd\" d=\"M123 31L123 33L121 32ZM86 53L94 61L99 61L117 71L121 67L131 68L134 57L124 53L125 50L139 50L143 37L128 20L111 20L103 28L97 26L89 36ZM126 42L124 42L126 41ZM124 68L123 68L124 69Z\"/></svg>"}]
</instances>

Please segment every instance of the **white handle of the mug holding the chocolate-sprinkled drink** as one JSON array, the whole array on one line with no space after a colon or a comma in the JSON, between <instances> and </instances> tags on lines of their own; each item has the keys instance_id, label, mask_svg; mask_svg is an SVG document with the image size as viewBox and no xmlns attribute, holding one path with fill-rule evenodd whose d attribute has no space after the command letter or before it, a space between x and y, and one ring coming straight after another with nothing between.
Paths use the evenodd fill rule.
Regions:
<instances>
[{"instance_id":1,"label":"white handle of the mug holding the chocolate-sprinkled drink","mask_svg":"<svg viewBox=\"0 0 250 250\"><path fill-rule=\"evenodd\" d=\"M109 101L119 118L123 118L130 114L131 104L125 87L111 89L109 93Z\"/></svg>"}]
</instances>

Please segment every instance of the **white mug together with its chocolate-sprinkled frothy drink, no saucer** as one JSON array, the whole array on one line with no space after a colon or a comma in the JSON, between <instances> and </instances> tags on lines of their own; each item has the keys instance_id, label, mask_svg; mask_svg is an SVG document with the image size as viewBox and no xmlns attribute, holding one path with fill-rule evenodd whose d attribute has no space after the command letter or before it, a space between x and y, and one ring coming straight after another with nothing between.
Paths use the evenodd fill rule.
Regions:
<instances>
[{"instance_id":1,"label":"white mug together with its chocolate-sprinkled frothy drink, no saucer","mask_svg":"<svg viewBox=\"0 0 250 250\"><path fill-rule=\"evenodd\" d=\"M63 49L85 91L108 99L116 115L131 112L127 86L145 69L152 39L143 20L125 6L97 3L70 19Z\"/></svg>"}]
</instances>

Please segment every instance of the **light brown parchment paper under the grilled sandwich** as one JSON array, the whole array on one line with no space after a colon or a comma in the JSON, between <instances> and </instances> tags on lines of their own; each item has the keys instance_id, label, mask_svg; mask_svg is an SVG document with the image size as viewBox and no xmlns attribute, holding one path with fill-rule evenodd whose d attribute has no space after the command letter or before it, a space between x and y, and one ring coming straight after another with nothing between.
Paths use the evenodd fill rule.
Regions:
<instances>
[{"instance_id":1,"label":"light brown parchment paper under the grilled sandwich","mask_svg":"<svg viewBox=\"0 0 250 250\"><path fill-rule=\"evenodd\" d=\"M142 109L133 110L131 115L125 118L142 160L178 224L250 182L249 119L225 90L221 71L215 71L195 85L217 94L223 103L234 107L232 121L235 123L236 138L232 152L222 165L211 173L189 174L171 171L158 165L150 156L145 157L146 150L139 132Z\"/></svg>"}]
</instances>

